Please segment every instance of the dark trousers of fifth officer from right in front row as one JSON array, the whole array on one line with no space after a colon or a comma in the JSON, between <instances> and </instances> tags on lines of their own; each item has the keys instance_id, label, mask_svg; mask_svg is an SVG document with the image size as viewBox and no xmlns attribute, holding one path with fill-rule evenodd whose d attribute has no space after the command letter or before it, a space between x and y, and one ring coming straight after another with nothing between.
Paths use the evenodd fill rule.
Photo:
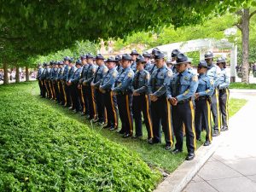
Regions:
<instances>
[{"instance_id":1,"label":"dark trousers of fifth officer from right in front row","mask_svg":"<svg viewBox=\"0 0 256 192\"><path fill-rule=\"evenodd\" d=\"M117 129L119 125L119 111L116 96L113 96L112 90L106 90L106 92L103 94L103 99L104 106L107 110L108 125Z\"/></svg>"}]
</instances>

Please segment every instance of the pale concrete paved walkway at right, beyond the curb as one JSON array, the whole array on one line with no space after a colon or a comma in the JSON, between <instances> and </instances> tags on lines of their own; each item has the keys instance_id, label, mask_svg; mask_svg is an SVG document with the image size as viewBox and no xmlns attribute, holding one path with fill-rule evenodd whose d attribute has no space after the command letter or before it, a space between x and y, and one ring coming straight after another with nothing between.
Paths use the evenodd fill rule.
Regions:
<instances>
[{"instance_id":1,"label":"pale concrete paved walkway at right, beyond the curb","mask_svg":"<svg viewBox=\"0 0 256 192\"><path fill-rule=\"evenodd\" d=\"M230 130L220 136L224 142L183 191L256 191L256 93L231 92L248 102L230 119Z\"/></svg>"}]
</instances>

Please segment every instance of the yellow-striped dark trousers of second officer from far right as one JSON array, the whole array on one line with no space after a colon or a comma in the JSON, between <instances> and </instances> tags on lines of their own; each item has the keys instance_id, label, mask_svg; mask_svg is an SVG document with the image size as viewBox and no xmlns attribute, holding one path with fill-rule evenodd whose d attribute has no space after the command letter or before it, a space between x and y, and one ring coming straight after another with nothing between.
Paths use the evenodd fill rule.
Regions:
<instances>
[{"instance_id":1,"label":"yellow-striped dark trousers of second officer from far right","mask_svg":"<svg viewBox=\"0 0 256 192\"><path fill-rule=\"evenodd\" d=\"M212 117L214 122L213 129L219 132L221 120L220 120L220 110L219 110L219 101L218 101L218 89L215 89L212 95L211 109L212 109Z\"/></svg>"}]
</instances>

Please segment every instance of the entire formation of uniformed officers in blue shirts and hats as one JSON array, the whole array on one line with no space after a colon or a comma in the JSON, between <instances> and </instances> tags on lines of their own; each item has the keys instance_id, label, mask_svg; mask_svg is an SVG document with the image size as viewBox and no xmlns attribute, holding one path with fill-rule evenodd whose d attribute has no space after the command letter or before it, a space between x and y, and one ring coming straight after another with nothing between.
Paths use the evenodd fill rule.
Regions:
<instances>
[{"instance_id":1,"label":"entire formation of uniformed officers in blue shirts and hats","mask_svg":"<svg viewBox=\"0 0 256 192\"><path fill-rule=\"evenodd\" d=\"M178 49L172 51L172 60L167 63L157 48L151 54L139 55L132 50L131 55L110 56L108 60L101 54L81 55L78 61L66 56L63 61L40 66L38 84L42 97L74 113L82 112L86 119L111 131L119 128L120 119L117 132L124 138L143 136L142 119L148 143L161 143L163 132L166 149L171 149L176 139L174 154L183 151L186 136L186 160L193 160L203 129L207 131L205 146L220 131L228 130L230 77L223 58L213 64L212 52L200 61L197 73L190 64Z\"/></svg>"}]
</instances>

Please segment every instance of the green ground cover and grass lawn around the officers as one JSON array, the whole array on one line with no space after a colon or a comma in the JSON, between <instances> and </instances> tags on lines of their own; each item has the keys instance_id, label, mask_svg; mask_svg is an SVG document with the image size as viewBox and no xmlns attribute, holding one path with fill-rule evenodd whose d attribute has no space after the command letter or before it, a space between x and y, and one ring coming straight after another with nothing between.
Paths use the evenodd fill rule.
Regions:
<instances>
[{"instance_id":1,"label":"green ground cover and grass lawn around the officers","mask_svg":"<svg viewBox=\"0 0 256 192\"><path fill-rule=\"evenodd\" d=\"M149 145L145 128L143 139L121 138L38 92L37 82L0 86L0 191L150 191L158 170L173 172L186 156L185 143L174 155L164 138ZM245 103L230 99L230 116Z\"/></svg>"}]
</instances>

